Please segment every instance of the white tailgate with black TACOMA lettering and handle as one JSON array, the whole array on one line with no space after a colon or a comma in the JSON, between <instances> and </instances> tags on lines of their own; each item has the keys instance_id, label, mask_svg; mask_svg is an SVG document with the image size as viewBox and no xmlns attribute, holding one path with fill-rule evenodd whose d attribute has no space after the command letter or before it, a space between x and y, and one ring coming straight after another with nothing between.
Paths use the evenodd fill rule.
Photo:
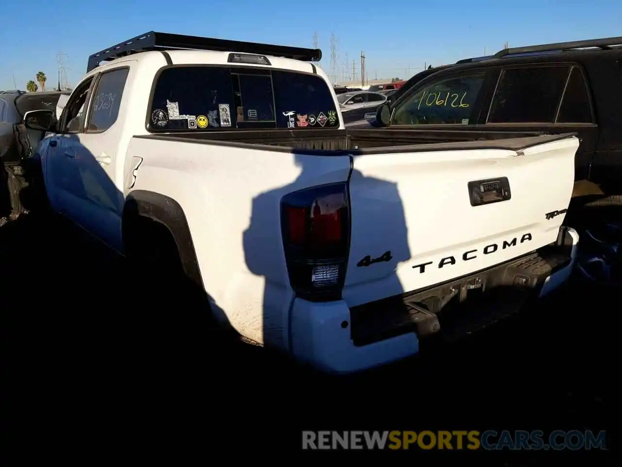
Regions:
<instances>
[{"instance_id":1,"label":"white tailgate with black TACOMA lettering and handle","mask_svg":"<svg viewBox=\"0 0 622 467\"><path fill-rule=\"evenodd\" d=\"M419 290L554 242L578 144L565 134L353 155L344 300Z\"/></svg>"}]
</instances>

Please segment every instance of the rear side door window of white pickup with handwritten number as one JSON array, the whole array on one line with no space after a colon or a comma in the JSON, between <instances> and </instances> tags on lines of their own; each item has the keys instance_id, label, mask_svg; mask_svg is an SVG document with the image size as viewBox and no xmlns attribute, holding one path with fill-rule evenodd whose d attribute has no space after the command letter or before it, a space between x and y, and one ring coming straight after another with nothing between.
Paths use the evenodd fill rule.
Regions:
<instances>
[{"instance_id":1,"label":"rear side door window of white pickup with handwritten number","mask_svg":"<svg viewBox=\"0 0 622 467\"><path fill-rule=\"evenodd\" d=\"M119 106L128 73L129 68L119 68L101 75L93 92L86 130L88 133L101 133L113 126L119 116Z\"/></svg>"}]
</instances>

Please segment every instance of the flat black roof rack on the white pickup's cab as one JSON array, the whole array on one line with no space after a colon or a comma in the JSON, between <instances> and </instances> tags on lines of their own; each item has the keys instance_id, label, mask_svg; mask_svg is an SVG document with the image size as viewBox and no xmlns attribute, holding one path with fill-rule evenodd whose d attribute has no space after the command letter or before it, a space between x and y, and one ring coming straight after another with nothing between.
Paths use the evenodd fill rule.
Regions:
<instances>
[{"instance_id":1,"label":"flat black roof rack on the white pickup's cab","mask_svg":"<svg viewBox=\"0 0 622 467\"><path fill-rule=\"evenodd\" d=\"M275 57L304 60L305 62L319 62L322 59L322 50L320 49L305 49L304 47L289 47L287 45L259 44L256 42L149 31L91 55L88 57L86 72L88 73L100 66L100 62L146 52L147 50L245 52L247 54L274 55Z\"/></svg>"}]
</instances>

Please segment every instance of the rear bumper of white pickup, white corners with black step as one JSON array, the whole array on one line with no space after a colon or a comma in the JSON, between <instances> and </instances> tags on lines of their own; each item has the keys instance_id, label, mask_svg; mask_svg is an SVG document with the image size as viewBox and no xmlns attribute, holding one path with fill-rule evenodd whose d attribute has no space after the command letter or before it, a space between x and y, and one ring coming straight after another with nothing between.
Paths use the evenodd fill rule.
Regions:
<instances>
[{"instance_id":1,"label":"rear bumper of white pickup, white corners with black step","mask_svg":"<svg viewBox=\"0 0 622 467\"><path fill-rule=\"evenodd\" d=\"M531 255L427 290L353 308L343 300L312 303L297 298L290 315L291 352L301 361L334 373L356 372L412 356L427 339L471 333L519 311L528 298L555 290L572 272L577 245L577 232L562 227L556 243ZM474 289L486 294L464 301ZM439 308L439 300L449 298L460 309L458 320L448 311L451 306Z\"/></svg>"}]
</instances>

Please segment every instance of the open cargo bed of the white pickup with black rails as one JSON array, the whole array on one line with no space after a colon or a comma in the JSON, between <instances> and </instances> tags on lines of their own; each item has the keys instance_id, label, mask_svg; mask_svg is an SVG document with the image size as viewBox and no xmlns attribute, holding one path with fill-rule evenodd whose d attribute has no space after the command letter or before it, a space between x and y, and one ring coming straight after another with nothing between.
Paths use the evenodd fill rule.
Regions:
<instances>
[{"instance_id":1,"label":"open cargo bed of the white pickup with black rails","mask_svg":"<svg viewBox=\"0 0 622 467\"><path fill-rule=\"evenodd\" d=\"M137 136L141 139L164 139L183 143L206 143L223 146L264 149L318 155L381 154L451 149L509 149L519 151L535 144L565 139L572 133L544 135L537 132L455 131L455 130L271 130L205 131L160 133ZM390 148L390 149L389 149Z\"/></svg>"}]
</instances>

